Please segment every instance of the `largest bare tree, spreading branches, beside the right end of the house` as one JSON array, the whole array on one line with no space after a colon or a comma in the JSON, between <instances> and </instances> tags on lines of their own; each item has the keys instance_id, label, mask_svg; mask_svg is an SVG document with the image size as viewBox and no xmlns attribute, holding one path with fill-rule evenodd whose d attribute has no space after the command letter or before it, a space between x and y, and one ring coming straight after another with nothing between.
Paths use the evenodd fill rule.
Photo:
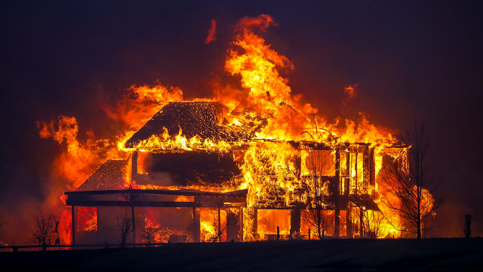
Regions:
<instances>
[{"instance_id":1,"label":"largest bare tree, spreading branches, beside the right end of the house","mask_svg":"<svg viewBox=\"0 0 483 272\"><path fill-rule=\"evenodd\" d=\"M411 148L397 159L386 156L381 200L400 218L399 222L394 222L397 217L388 217L393 227L422 238L423 233L438 227L428 222L435 210L446 202L446 195L440 190L441 180L436 180L429 172L430 136L426 124L414 120L412 126L400 134L400 139Z\"/></svg>"}]
</instances>

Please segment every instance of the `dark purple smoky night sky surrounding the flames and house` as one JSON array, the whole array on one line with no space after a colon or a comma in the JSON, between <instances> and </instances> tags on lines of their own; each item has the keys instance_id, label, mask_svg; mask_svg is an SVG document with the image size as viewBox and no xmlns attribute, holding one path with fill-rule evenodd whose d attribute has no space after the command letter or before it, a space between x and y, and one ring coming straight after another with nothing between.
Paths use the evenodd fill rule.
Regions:
<instances>
[{"instance_id":1,"label":"dark purple smoky night sky surrounding the flames and house","mask_svg":"<svg viewBox=\"0 0 483 272\"><path fill-rule=\"evenodd\" d=\"M432 236L461 236L463 215L483 235L482 8L477 1L32 1L1 10L0 196L42 201L62 149L36 121L75 116L80 130L112 136L100 105L133 84L179 86L210 96L224 74L234 26L271 15L262 34L293 61L294 93L329 119L369 115L402 129L416 117L432 136L430 158L448 203ZM216 20L217 39L204 41ZM358 96L342 108L343 87ZM343 111L342 111L343 110Z\"/></svg>"}]
</instances>

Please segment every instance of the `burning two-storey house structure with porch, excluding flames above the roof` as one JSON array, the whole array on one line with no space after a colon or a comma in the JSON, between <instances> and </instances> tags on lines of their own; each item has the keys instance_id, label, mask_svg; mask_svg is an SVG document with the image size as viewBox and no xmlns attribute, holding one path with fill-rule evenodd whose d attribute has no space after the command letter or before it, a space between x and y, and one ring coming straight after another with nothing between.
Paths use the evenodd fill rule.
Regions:
<instances>
[{"instance_id":1,"label":"burning two-storey house structure with porch, excluding flames above the roof","mask_svg":"<svg viewBox=\"0 0 483 272\"><path fill-rule=\"evenodd\" d=\"M267 122L227 124L243 114L227 113L216 102L170 102L161 108L125 141L128 159L107 160L76 191L65 193L74 218L73 241L79 214L94 213L96 238L112 233L109 227L103 230L115 222L111 207L130 208L137 242L136 226L146 208L157 209L156 221L165 214L170 221L184 218L185 226L171 227L185 228L193 242L213 235L218 241L274 239L277 232L306 237L310 217L301 213L317 197L313 179L323 189L315 194L327 200L323 210L331 214L332 226L326 231L334 237L360 236L363 211L381 212L377 167L384 154L404 157L407 146L340 142L315 126L301 133L312 140L258 138ZM318 134L328 136L318 142L313 137ZM165 212L169 209L174 211Z\"/></svg>"}]
</instances>

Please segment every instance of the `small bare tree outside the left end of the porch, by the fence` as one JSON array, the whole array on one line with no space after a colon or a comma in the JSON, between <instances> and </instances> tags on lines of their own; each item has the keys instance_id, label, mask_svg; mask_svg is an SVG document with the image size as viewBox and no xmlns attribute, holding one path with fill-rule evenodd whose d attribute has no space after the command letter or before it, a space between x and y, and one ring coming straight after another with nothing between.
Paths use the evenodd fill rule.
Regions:
<instances>
[{"instance_id":1,"label":"small bare tree outside the left end of the porch, by the fence","mask_svg":"<svg viewBox=\"0 0 483 272\"><path fill-rule=\"evenodd\" d=\"M42 208L37 207L37 215L34 218L34 229L32 229L31 242L39 245L39 250L47 250L54 237L54 213L45 213Z\"/></svg>"}]
</instances>

